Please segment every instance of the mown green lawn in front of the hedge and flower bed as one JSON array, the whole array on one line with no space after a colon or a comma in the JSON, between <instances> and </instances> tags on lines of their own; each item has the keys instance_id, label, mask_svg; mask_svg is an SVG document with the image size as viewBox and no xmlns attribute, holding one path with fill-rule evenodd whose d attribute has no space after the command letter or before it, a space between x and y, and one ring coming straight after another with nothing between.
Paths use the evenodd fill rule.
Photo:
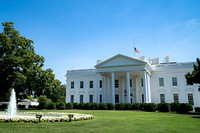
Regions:
<instances>
[{"instance_id":1,"label":"mown green lawn in front of the hedge and flower bed","mask_svg":"<svg viewBox=\"0 0 200 133\"><path fill-rule=\"evenodd\" d=\"M52 111L51 111L52 112ZM0 123L0 133L199 133L200 119L192 115L137 112L62 110L92 114L93 120L57 123Z\"/></svg>"}]
</instances>

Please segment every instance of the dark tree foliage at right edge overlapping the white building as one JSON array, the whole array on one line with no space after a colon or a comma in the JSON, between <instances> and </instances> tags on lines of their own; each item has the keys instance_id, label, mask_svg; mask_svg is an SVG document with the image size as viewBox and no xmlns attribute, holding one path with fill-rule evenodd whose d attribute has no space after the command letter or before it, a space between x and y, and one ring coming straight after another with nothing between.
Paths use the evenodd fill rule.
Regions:
<instances>
[{"instance_id":1,"label":"dark tree foliage at right edge overlapping the white building","mask_svg":"<svg viewBox=\"0 0 200 133\"><path fill-rule=\"evenodd\" d=\"M200 84L200 60L196 59L197 63L193 65L194 69L191 73L187 73L185 78L190 85Z\"/></svg>"}]
</instances>

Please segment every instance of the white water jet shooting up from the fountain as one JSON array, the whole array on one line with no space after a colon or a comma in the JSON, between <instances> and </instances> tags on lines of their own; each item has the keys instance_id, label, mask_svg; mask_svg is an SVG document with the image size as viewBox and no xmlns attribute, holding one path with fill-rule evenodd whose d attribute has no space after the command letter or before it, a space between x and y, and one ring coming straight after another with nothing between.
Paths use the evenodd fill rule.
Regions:
<instances>
[{"instance_id":1,"label":"white water jet shooting up from the fountain","mask_svg":"<svg viewBox=\"0 0 200 133\"><path fill-rule=\"evenodd\" d=\"M7 114L9 117L16 116L17 113L17 101L16 101L16 93L15 90L12 89L11 96L10 96L10 102L8 104Z\"/></svg>"}]
</instances>

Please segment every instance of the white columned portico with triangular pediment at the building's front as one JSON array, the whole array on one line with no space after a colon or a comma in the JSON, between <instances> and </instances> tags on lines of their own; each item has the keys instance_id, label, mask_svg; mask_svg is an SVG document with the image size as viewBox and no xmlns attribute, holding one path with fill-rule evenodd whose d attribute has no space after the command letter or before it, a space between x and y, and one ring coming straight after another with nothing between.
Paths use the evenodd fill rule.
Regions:
<instances>
[{"instance_id":1,"label":"white columned portico with triangular pediment at the building's front","mask_svg":"<svg viewBox=\"0 0 200 133\"><path fill-rule=\"evenodd\" d=\"M150 72L146 62L116 55L95 67L103 86L97 88L98 102L99 94L105 103L151 102Z\"/></svg>"}]
</instances>

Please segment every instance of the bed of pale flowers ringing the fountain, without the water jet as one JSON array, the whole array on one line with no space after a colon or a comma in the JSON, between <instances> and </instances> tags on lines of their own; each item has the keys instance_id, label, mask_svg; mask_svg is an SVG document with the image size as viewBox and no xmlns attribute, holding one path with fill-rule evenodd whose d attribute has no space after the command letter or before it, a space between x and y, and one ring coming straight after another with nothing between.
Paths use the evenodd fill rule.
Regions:
<instances>
[{"instance_id":1,"label":"bed of pale flowers ringing the fountain, without the water jet","mask_svg":"<svg viewBox=\"0 0 200 133\"><path fill-rule=\"evenodd\" d=\"M43 112L26 112L18 113L17 116L9 117L6 113L0 113L0 122L34 122L39 121L36 115L42 115L40 122L68 122L68 121L79 121L93 119L92 115L89 114L78 114L78 113L43 113ZM69 116L72 116L71 118Z\"/></svg>"}]
</instances>

